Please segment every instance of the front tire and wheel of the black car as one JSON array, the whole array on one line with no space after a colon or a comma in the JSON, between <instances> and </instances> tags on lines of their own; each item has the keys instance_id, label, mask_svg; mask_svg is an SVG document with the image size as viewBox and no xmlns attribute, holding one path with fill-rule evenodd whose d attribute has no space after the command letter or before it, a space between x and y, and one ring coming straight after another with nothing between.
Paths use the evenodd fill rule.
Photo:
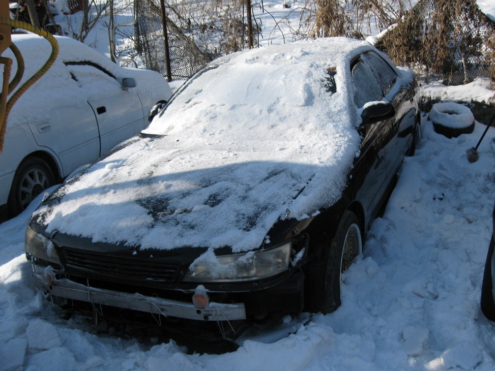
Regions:
<instances>
[{"instance_id":1,"label":"front tire and wheel of the black car","mask_svg":"<svg viewBox=\"0 0 495 371\"><path fill-rule=\"evenodd\" d=\"M335 237L330 243L322 310L324 314L334 312L340 306L341 273L352 264L357 256L362 254L362 251L363 242L359 219L354 212L346 210L337 227Z\"/></svg>"}]
</instances>

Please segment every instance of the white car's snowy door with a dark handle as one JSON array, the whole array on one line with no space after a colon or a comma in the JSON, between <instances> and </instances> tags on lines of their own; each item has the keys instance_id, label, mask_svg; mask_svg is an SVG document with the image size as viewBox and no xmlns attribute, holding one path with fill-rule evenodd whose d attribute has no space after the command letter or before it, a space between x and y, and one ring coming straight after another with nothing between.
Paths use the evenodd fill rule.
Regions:
<instances>
[{"instance_id":1,"label":"white car's snowy door with a dark handle","mask_svg":"<svg viewBox=\"0 0 495 371\"><path fill-rule=\"evenodd\" d=\"M94 63L66 65L81 86L92 92L88 103L98 121L100 154L145 128L147 119L138 95L115 76Z\"/></svg>"}]
</instances>

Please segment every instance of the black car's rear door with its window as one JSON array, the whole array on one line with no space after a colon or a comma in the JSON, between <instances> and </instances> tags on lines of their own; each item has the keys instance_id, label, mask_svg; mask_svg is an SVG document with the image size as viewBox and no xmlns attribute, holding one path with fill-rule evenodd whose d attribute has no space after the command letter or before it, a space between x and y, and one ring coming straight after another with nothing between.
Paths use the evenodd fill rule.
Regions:
<instances>
[{"instance_id":1,"label":"black car's rear door with its window","mask_svg":"<svg viewBox=\"0 0 495 371\"><path fill-rule=\"evenodd\" d=\"M393 176L412 143L416 119L414 86L412 81L405 81L402 86L404 82L399 79L395 69L377 53L367 52L362 58L373 71L382 95L387 97L395 109L395 119L390 120L391 125L387 125L382 132L387 152L387 173Z\"/></svg>"}]
</instances>

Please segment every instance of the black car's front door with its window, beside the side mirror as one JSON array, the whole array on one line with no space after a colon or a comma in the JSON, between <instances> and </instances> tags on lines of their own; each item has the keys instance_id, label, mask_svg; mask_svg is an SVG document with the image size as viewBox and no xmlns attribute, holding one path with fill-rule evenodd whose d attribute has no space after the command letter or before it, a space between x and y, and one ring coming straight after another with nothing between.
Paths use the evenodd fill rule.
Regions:
<instances>
[{"instance_id":1,"label":"black car's front door with its window, beside the side mirror","mask_svg":"<svg viewBox=\"0 0 495 371\"><path fill-rule=\"evenodd\" d=\"M383 98L380 84L362 56L353 60L351 76L354 103L358 110L362 110L370 102L378 102ZM356 199L364 206L367 215L377 211L389 182L384 142L384 132L388 131L389 126L391 126L390 119L385 119L362 122L358 128L362 141L360 156L354 164L352 176L358 190Z\"/></svg>"}]
</instances>

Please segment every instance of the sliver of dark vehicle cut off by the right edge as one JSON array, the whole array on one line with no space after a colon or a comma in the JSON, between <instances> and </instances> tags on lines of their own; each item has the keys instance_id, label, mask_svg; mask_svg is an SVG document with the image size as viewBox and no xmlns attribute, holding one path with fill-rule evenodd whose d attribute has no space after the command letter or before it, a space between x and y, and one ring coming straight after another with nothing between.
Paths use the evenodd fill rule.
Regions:
<instances>
[{"instance_id":1,"label":"sliver of dark vehicle cut off by the right edge","mask_svg":"<svg viewBox=\"0 0 495 371\"><path fill-rule=\"evenodd\" d=\"M487 319L495 321L495 206L492 212L493 229L486 254L483 281L481 284L481 311Z\"/></svg>"}]
</instances>

